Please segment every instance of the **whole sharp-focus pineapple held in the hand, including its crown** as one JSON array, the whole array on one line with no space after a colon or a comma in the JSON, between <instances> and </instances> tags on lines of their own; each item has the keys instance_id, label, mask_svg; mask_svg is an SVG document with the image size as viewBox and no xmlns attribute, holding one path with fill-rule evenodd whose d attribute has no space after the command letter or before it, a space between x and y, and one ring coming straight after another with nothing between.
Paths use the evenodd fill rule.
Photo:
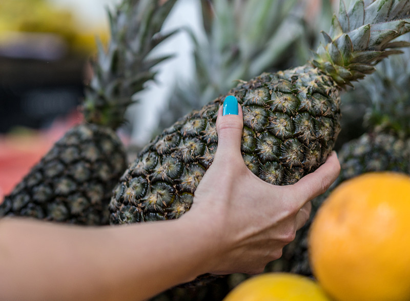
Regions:
<instances>
[{"instance_id":1,"label":"whole sharp-focus pineapple held in the hand, including its crown","mask_svg":"<svg viewBox=\"0 0 410 301\"><path fill-rule=\"evenodd\" d=\"M241 150L248 168L268 183L288 185L322 164L340 129L339 91L372 73L382 58L399 53L392 40L410 30L410 3L340 3L325 44L306 65L263 73L228 94L242 105ZM404 19L403 19L404 18ZM224 96L182 117L141 151L120 178L110 222L178 218L216 150L216 113Z\"/></svg>"}]
</instances>

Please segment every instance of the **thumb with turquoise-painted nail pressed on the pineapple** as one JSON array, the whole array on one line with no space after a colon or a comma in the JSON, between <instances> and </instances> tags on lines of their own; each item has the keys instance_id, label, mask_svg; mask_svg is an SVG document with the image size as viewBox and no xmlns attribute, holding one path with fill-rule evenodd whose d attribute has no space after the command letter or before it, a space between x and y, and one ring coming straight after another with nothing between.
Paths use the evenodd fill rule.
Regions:
<instances>
[{"instance_id":1,"label":"thumb with turquoise-painted nail pressed on the pineapple","mask_svg":"<svg viewBox=\"0 0 410 301\"><path fill-rule=\"evenodd\" d=\"M238 104L236 97L229 95L225 98L223 106L219 108L216 119L218 147L215 156L232 156L236 154L241 156L242 128L242 108Z\"/></svg>"}]
</instances>

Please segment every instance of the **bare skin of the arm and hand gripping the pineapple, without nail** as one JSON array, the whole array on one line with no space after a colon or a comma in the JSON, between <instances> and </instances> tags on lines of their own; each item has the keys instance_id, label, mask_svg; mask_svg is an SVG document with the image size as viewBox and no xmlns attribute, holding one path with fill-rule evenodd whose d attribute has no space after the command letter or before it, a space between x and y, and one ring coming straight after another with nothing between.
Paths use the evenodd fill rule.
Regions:
<instances>
[{"instance_id":1,"label":"bare skin of the arm and hand gripping the pineapple, without nail","mask_svg":"<svg viewBox=\"0 0 410 301\"><path fill-rule=\"evenodd\" d=\"M214 162L179 219L98 228L0 220L0 299L142 300L204 273L262 272L340 165L333 153L294 185L265 183L243 162L242 126L240 107L219 110Z\"/></svg>"}]
</instances>

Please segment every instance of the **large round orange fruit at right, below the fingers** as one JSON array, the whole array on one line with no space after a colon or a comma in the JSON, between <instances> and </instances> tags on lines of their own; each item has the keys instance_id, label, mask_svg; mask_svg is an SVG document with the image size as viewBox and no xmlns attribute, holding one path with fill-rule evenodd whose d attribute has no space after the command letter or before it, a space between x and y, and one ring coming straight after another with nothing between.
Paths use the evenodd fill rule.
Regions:
<instances>
[{"instance_id":1,"label":"large round orange fruit at right, below the fingers","mask_svg":"<svg viewBox=\"0 0 410 301\"><path fill-rule=\"evenodd\" d=\"M336 300L410 300L410 177L375 172L339 185L316 214L309 252Z\"/></svg>"}]
</instances>

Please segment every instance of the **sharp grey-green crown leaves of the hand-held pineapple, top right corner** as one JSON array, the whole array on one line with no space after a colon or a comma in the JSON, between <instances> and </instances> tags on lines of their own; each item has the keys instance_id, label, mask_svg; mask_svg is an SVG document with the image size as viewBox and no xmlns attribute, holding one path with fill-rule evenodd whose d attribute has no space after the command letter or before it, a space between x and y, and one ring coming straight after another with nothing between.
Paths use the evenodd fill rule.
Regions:
<instances>
[{"instance_id":1,"label":"sharp grey-green crown leaves of the hand-held pineapple, top right corner","mask_svg":"<svg viewBox=\"0 0 410 301\"><path fill-rule=\"evenodd\" d=\"M409 0L354 0L346 10L340 0L330 33L322 32L325 45L314 54L312 65L332 76L344 87L375 71L384 57L398 54L404 41L392 42L410 31Z\"/></svg>"}]
</instances>

